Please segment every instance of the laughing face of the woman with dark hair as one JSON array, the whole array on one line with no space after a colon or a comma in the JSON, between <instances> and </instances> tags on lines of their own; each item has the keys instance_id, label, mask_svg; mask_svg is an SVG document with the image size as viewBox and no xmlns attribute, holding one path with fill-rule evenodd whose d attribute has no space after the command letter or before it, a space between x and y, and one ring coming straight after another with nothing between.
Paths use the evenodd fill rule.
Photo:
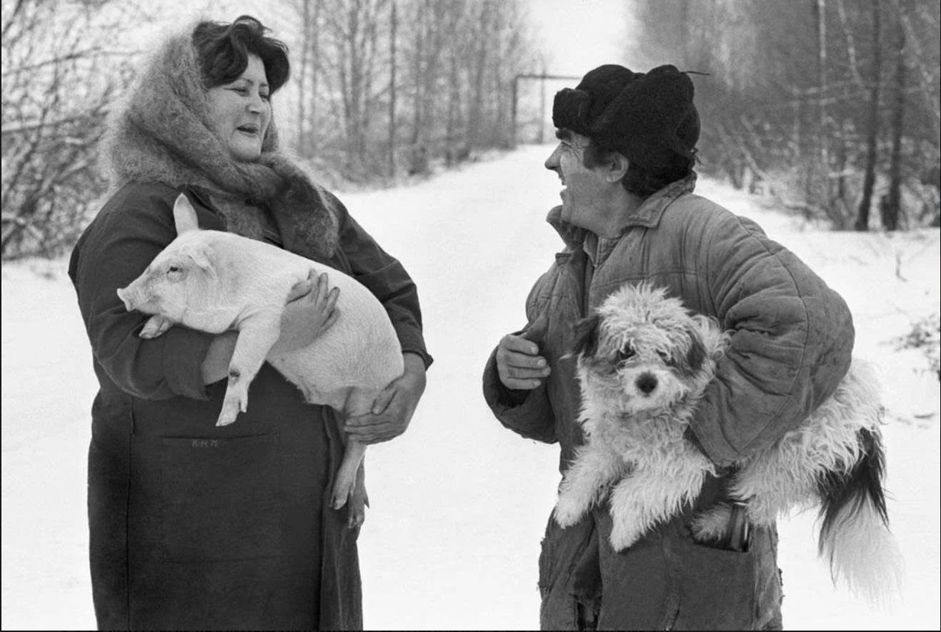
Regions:
<instances>
[{"instance_id":1,"label":"laughing face of the woman with dark hair","mask_svg":"<svg viewBox=\"0 0 941 632\"><path fill-rule=\"evenodd\" d=\"M262 58L248 55L245 72L231 82L208 91L215 133L235 160L258 160L271 121L268 78Z\"/></svg>"}]
</instances>

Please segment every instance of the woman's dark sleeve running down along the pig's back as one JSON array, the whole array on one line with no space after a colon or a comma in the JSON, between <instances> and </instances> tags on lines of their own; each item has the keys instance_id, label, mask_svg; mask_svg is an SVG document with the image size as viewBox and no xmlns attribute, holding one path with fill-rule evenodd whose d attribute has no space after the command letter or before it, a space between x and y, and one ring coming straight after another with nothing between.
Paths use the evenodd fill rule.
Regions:
<instances>
[{"instance_id":1,"label":"woman's dark sleeve running down along the pig's back","mask_svg":"<svg viewBox=\"0 0 941 632\"><path fill-rule=\"evenodd\" d=\"M346 211L343 202L332 194L329 201L337 210L340 224L340 247L349 261L352 277L356 278L379 299L389 314L402 351L421 356L427 369L433 358L424 343L422 308L418 288L398 260L391 257L359 226Z\"/></svg>"}]
</instances>

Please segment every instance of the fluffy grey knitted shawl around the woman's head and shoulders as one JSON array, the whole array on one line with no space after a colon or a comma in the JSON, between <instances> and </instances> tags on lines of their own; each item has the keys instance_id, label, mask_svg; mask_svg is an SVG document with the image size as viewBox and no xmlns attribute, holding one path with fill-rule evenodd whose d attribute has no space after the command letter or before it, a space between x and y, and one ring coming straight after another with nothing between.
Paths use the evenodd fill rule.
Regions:
<instances>
[{"instance_id":1,"label":"fluffy grey knitted shawl around the woman's head and shoulders","mask_svg":"<svg viewBox=\"0 0 941 632\"><path fill-rule=\"evenodd\" d=\"M334 198L279 151L274 117L255 162L232 158L215 134L193 26L154 52L109 115L103 154L112 188L127 182L193 187L209 195L230 232L260 238L263 213L270 213L287 249L329 257L338 241Z\"/></svg>"}]
</instances>

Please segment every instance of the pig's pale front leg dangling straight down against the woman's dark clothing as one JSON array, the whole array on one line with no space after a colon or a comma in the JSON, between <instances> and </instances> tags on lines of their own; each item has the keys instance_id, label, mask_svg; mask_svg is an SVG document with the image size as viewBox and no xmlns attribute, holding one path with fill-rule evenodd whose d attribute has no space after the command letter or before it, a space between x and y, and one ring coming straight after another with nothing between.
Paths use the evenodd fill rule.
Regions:
<instances>
[{"instance_id":1,"label":"pig's pale front leg dangling straight down against the woman's dark clothing","mask_svg":"<svg viewBox=\"0 0 941 632\"><path fill-rule=\"evenodd\" d=\"M280 314L259 314L239 326L229 363L229 386L216 426L228 426L248 409L248 385L262 368L265 356L280 336Z\"/></svg>"}]
</instances>

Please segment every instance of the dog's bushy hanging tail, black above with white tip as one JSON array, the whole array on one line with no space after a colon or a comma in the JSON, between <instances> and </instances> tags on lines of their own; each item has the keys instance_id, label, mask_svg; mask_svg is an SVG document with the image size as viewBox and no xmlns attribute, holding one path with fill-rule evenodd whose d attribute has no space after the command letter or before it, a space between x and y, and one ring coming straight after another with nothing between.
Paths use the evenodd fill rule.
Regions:
<instances>
[{"instance_id":1,"label":"dog's bushy hanging tail, black above with white tip","mask_svg":"<svg viewBox=\"0 0 941 632\"><path fill-rule=\"evenodd\" d=\"M822 473L818 548L834 582L844 581L869 602L887 604L901 589L904 563L888 529L885 452L877 429L860 428L859 459L842 471Z\"/></svg>"}]
</instances>

